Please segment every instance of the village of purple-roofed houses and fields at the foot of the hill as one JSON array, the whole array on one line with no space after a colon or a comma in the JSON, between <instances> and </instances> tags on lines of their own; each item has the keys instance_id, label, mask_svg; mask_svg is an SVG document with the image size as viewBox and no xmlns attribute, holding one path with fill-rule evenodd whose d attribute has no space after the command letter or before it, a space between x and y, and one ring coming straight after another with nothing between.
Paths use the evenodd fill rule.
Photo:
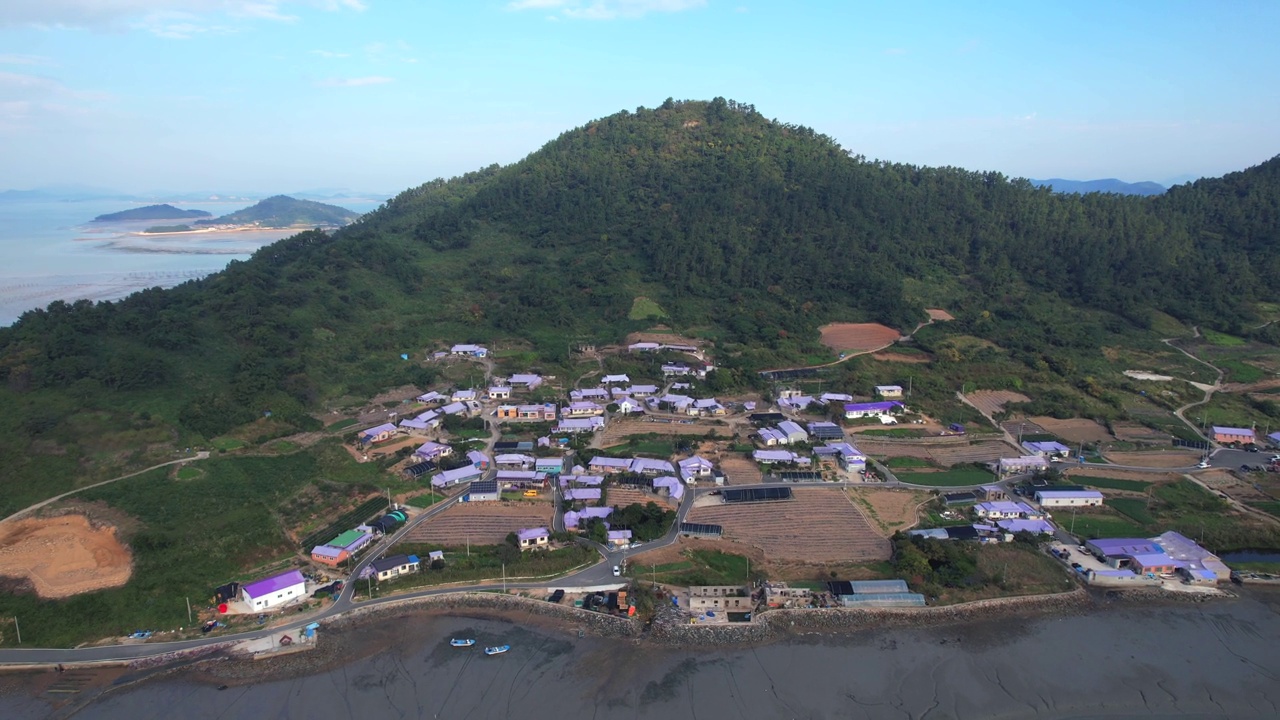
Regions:
<instances>
[{"instance_id":1,"label":"village of purple-roofed houses and fields at the foot of the hill","mask_svg":"<svg viewBox=\"0 0 1280 720\"><path fill-rule=\"evenodd\" d=\"M1211 466L1207 448L1108 466L1085 462L1079 421L1056 433L1028 419L1016 429L941 421L914 410L901 384L855 396L781 382L771 396L717 397L695 341L643 340L617 354L648 374L608 373L602 361L568 384L527 368L498 373L480 345L431 352L429 363L484 369L484 383L419 388L347 445L360 461L393 459L389 471L422 489L371 498L330 524L303 548L305 566L223 585L219 612L500 587L716 625L780 607L989 596L902 573L904 552L915 552L904 548L931 542L975 547L978 568L1002 562L1005 573L1012 557L1029 568L1019 589L1041 593L1212 596L1233 579L1272 582L1233 573L1138 507L1194 496L1256 521L1231 495L1252 469ZM965 400L989 418L1006 395ZM1280 433L1213 432L1224 447L1280 445Z\"/></svg>"}]
</instances>

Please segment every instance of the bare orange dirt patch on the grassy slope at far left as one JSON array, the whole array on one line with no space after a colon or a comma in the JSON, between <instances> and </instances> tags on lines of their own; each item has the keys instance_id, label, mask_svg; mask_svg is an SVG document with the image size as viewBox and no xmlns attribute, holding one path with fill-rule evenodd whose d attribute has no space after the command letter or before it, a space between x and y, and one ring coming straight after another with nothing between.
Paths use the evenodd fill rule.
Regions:
<instances>
[{"instance_id":1,"label":"bare orange dirt patch on the grassy slope at far left","mask_svg":"<svg viewBox=\"0 0 1280 720\"><path fill-rule=\"evenodd\" d=\"M29 583L42 598L116 588L132 574L133 559L115 528L83 515L0 525L0 575Z\"/></svg>"}]
</instances>

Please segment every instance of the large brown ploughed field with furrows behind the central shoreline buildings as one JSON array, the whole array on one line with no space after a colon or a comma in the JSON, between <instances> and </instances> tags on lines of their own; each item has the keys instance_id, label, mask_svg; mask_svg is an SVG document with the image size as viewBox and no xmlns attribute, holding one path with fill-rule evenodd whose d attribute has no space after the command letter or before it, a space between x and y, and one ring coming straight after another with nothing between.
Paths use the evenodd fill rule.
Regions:
<instances>
[{"instance_id":1,"label":"large brown ploughed field with furrows behind the central shoreline buildings","mask_svg":"<svg viewBox=\"0 0 1280 720\"><path fill-rule=\"evenodd\" d=\"M686 521L724 528L724 538L769 560L828 564L888 560L890 542L836 488L792 489L794 500L695 507Z\"/></svg>"}]
</instances>

